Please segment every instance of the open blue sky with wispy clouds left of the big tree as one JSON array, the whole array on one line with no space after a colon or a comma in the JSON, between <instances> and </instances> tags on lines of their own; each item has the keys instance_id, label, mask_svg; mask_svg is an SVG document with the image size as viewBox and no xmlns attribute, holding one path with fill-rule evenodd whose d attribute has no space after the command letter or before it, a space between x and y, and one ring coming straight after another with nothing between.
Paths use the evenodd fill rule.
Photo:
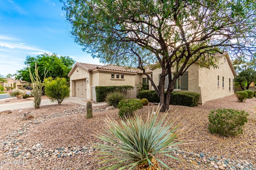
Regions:
<instances>
[{"instance_id":1,"label":"open blue sky with wispy clouds left of the big tree","mask_svg":"<svg viewBox=\"0 0 256 170\"><path fill-rule=\"evenodd\" d=\"M74 43L59 0L0 0L0 74L24 68L27 55L56 53L100 64Z\"/></svg>"}]
</instances>

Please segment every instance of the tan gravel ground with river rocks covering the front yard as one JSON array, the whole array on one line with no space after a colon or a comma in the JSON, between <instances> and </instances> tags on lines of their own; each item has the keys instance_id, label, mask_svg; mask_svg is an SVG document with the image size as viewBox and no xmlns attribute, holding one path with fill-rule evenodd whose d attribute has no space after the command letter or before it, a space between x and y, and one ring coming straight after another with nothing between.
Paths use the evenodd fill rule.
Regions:
<instances>
[{"instance_id":1,"label":"tan gravel ground with river rocks covering the front yard","mask_svg":"<svg viewBox=\"0 0 256 170\"><path fill-rule=\"evenodd\" d=\"M92 119L86 119L86 107L74 103L61 106L41 106L34 110L14 110L0 116L0 169L1 170L94 170L102 165L96 159L100 150L95 137L103 133L105 117L118 120L118 109L104 111L107 106L93 107ZM143 117L148 109L138 111ZM187 130L180 136L184 141L180 150L172 153L182 161L162 157L174 170L255 170L256 168L256 100L236 102L229 96L197 107L170 106ZM222 137L208 131L208 114L211 109L243 109L250 116L244 133L236 137ZM20 115L28 111L36 119L22 121ZM110 144L111 145L111 144Z\"/></svg>"}]
</instances>

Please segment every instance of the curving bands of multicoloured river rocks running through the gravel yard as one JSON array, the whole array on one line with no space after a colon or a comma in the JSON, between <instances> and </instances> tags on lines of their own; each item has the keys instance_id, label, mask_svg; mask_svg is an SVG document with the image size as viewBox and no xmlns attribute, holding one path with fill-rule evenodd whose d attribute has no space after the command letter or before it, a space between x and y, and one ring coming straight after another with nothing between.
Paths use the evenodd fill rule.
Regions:
<instances>
[{"instance_id":1,"label":"curving bands of multicoloured river rocks running through the gravel yard","mask_svg":"<svg viewBox=\"0 0 256 170\"><path fill-rule=\"evenodd\" d=\"M58 158L65 158L70 156L86 156L97 151L90 143L85 146L68 146L67 148L45 148L43 143L34 143L28 145L26 141L21 141L19 137L26 134L31 128L36 127L38 123L42 123L48 119L55 117L62 117L66 115L73 115L84 113L85 106L80 106L76 109L66 110L62 113L55 113L48 116L38 117L24 123L24 125L13 131L4 140L0 140L0 156L7 158L23 158L36 160L52 160ZM103 111L104 109L94 109L94 112ZM225 158L224 156L210 156L204 153L183 152L181 150L174 150L172 156L183 159L188 163L196 162L200 166L208 166L220 170L256 170L256 166L249 163L248 160L234 160Z\"/></svg>"}]
</instances>

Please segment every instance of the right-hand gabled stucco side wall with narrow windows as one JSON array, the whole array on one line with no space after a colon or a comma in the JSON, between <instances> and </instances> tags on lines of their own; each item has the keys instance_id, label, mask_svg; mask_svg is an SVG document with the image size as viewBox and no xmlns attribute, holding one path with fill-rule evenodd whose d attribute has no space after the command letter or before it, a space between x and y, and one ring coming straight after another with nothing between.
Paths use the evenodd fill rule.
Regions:
<instances>
[{"instance_id":1,"label":"right-hand gabled stucco side wall with narrow windows","mask_svg":"<svg viewBox=\"0 0 256 170\"><path fill-rule=\"evenodd\" d=\"M234 94L233 79L234 74L230 69L226 57L222 57L218 62L219 68L199 68L199 86L203 103L218 98L223 98ZM219 76L219 86L218 86ZM222 88L222 76L224 76L224 88ZM230 90L229 90L230 78Z\"/></svg>"}]
</instances>

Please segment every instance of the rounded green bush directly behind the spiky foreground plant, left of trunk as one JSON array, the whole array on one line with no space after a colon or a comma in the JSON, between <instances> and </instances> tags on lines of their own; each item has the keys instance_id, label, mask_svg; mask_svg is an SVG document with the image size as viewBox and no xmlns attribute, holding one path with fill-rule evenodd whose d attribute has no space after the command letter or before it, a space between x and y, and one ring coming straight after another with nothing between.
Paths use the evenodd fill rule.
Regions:
<instances>
[{"instance_id":1,"label":"rounded green bush directly behind the spiky foreground plant, left of trunk","mask_svg":"<svg viewBox=\"0 0 256 170\"><path fill-rule=\"evenodd\" d=\"M119 117L123 118L124 116L133 116L134 111L141 109L143 105L139 99L126 99L121 100L117 107L119 109Z\"/></svg>"}]
</instances>

